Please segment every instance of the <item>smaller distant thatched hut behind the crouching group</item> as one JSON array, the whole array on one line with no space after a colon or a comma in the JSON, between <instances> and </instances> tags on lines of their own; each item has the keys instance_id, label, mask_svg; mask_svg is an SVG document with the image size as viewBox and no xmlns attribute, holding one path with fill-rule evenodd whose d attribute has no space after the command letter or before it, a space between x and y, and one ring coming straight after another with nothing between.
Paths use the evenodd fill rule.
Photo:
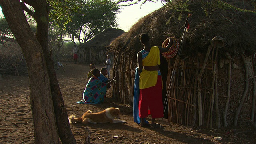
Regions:
<instances>
[{"instance_id":1,"label":"smaller distant thatched hut behind the crouching group","mask_svg":"<svg viewBox=\"0 0 256 144\"><path fill-rule=\"evenodd\" d=\"M112 40L114 40L123 33L123 30L108 28L91 40L80 44L78 52L78 62L83 64L103 64L106 60L106 51L108 49L108 46L110 45Z\"/></svg>"}]
</instances>

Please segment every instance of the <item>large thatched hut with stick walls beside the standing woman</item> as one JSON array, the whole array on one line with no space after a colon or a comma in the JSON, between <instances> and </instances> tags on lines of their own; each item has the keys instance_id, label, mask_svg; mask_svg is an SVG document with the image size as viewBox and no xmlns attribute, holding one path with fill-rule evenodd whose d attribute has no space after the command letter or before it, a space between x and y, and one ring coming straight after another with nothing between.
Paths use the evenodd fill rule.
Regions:
<instances>
[{"instance_id":1,"label":"large thatched hut with stick walls beside the standing woman","mask_svg":"<svg viewBox=\"0 0 256 144\"><path fill-rule=\"evenodd\" d=\"M254 10L248 1L227 1ZM188 126L255 126L256 14L230 9L232 6L223 2L216 3L219 8L202 2L189 1L191 12L164 6L141 18L112 42L113 75L117 77L113 97L132 106L132 70L137 66L136 54L143 48L140 34L149 34L152 46L161 46L169 36L181 41L187 14L192 13L180 58L161 58L163 101L168 101L165 116L170 122ZM223 40L212 41L215 36ZM223 42L224 46L212 46L211 42ZM178 68L169 87L175 62Z\"/></svg>"}]
</instances>

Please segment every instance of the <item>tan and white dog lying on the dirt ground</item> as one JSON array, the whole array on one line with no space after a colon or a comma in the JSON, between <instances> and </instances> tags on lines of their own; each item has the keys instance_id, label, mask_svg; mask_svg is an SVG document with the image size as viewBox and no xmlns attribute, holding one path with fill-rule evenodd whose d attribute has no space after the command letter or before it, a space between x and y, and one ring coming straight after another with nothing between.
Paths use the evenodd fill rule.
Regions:
<instances>
[{"instance_id":1,"label":"tan and white dog lying on the dirt ground","mask_svg":"<svg viewBox=\"0 0 256 144\"><path fill-rule=\"evenodd\" d=\"M124 120L120 119L120 110L119 108L107 108L101 112L92 113L88 110L85 112L81 118L76 118L76 116L69 116L70 123L81 122L82 124L97 124L97 123L126 123Z\"/></svg>"}]
</instances>

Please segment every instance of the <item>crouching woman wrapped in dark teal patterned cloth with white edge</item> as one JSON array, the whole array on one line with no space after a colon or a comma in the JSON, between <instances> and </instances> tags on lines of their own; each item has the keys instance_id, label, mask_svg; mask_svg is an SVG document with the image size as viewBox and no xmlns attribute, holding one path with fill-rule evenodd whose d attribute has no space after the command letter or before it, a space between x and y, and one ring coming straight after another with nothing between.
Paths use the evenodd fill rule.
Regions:
<instances>
[{"instance_id":1,"label":"crouching woman wrapped in dark teal patterned cloth with white edge","mask_svg":"<svg viewBox=\"0 0 256 144\"><path fill-rule=\"evenodd\" d=\"M107 88L110 87L110 84L114 82L115 78L108 82L107 84L101 82L98 77L100 76L100 70L94 68L92 70L92 78L90 78L89 82L86 84L83 93L83 99L76 103L78 104L99 104L104 101L104 95L106 94Z\"/></svg>"}]
</instances>

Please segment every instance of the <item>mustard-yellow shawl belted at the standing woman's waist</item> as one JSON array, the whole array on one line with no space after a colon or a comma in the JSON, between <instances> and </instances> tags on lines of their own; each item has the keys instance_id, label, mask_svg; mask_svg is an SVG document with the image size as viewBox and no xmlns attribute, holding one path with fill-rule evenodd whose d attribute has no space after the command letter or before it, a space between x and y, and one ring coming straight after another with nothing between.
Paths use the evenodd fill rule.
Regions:
<instances>
[{"instance_id":1,"label":"mustard-yellow shawl belted at the standing woman's waist","mask_svg":"<svg viewBox=\"0 0 256 144\"><path fill-rule=\"evenodd\" d=\"M152 46L148 56L142 60L143 66L157 66L160 65L160 52L158 46ZM147 71L142 69L140 73L140 89L150 88L156 85L157 71Z\"/></svg>"}]
</instances>

